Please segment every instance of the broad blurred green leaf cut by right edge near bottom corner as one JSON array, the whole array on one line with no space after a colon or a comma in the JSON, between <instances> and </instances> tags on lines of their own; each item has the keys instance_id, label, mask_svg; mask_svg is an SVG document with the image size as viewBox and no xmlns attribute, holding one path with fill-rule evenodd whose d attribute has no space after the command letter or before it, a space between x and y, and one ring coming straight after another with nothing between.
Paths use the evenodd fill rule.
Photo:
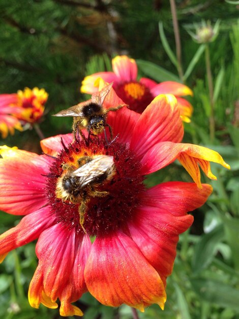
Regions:
<instances>
[{"instance_id":1,"label":"broad blurred green leaf cut by right edge near bottom corner","mask_svg":"<svg viewBox=\"0 0 239 319\"><path fill-rule=\"evenodd\" d=\"M191 284L202 300L239 312L239 290L228 284L204 278L191 279Z\"/></svg>"}]
</instances>

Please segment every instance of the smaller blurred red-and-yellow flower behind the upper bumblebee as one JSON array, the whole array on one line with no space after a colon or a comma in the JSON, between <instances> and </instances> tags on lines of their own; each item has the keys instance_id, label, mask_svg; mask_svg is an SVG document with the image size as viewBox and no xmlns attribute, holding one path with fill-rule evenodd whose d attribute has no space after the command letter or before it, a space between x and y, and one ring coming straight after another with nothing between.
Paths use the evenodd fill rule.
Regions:
<instances>
[{"instance_id":1,"label":"smaller blurred red-and-yellow flower behind the upper bumblebee","mask_svg":"<svg viewBox=\"0 0 239 319\"><path fill-rule=\"evenodd\" d=\"M181 96L193 95L192 90L181 83L167 81L156 83L150 78L142 77L137 81L137 64L127 56L117 56L112 59L113 72L98 72L86 76L82 81L81 92L93 94L98 91L99 81L113 82L116 94L131 110L142 113L148 104L159 94L173 94L177 98L182 120L190 122L192 105Z\"/></svg>"}]
</instances>

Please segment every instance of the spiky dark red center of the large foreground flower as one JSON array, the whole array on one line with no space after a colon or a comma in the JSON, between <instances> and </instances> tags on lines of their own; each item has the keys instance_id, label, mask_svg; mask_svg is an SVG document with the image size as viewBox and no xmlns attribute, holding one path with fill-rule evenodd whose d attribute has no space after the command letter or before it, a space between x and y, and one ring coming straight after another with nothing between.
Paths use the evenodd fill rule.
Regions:
<instances>
[{"instance_id":1,"label":"spiky dark red center of the large foreground flower","mask_svg":"<svg viewBox=\"0 0 239 319\"><path fill-rule=\"evenodd\" d=\"M94 138L88 144L76 140L64 149L54 159L47 176L46 196L51 206L52 214L56 215L58 222L65 222L69 227L82 231L79 223L79 202L66 200L59 196L57 183L64 176L66 169L76 170L79 163L84 163L84 158L97 155L113 156L115 171L113 177L97 184L97 191L107 192L102 197L93 197L86 192L86 209L83 227L91 235L108 233L114 229L125 229L126 222L133 218L134 208L139 205L140 197L144 191L141 163L136 154L121 144L114 141L107 145L104 139ZM83 161L82 161L83 159ZM82 165L81 164L81 165Z\"/></svg>"}]
</instances>

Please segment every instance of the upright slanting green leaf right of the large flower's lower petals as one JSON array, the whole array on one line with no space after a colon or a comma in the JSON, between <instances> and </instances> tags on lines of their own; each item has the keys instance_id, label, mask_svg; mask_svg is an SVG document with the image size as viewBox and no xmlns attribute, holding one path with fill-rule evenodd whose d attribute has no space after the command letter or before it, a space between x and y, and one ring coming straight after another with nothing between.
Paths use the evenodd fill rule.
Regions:
<instances>
[{"instance_id":1,"label":"upright slanting green leaf right of the large flower's lower petals","mask_svg":"<svg viewBox=\"0 0 239 319\"><path fill-rule=\"evenodd\" d=\"M201 240L195 246L192 258L192 270L198 273L205 269L212 261L217 251L217 244L223 238L223 226L219 225L210 233L201 236Z\"/></svg>"}]
</instances>

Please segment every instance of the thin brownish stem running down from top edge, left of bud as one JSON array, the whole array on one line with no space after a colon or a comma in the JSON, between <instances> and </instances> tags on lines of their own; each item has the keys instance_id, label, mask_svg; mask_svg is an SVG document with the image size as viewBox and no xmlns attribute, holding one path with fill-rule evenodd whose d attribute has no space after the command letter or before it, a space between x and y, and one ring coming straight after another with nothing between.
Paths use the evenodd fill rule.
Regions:
<instances>
[{"instance_id":1,"label":"thin brownish stem running down from top edge, left of bud","mask_svg":"<svg viewBox=\"0 0 239 319\"><path fill-rule=\"evenodd\" d=\"M177 72L181 81L183 82L184 72L182 67L180 31L179 31L178 23L177 23L177 12L176 12L176 5L174 0L170 0L170 7L171 7L171 14L172 14L172 24L173 24L173 31L174 31L174 37L175 37L175 44L176 44Z\"/></svg>"}]
</instances>

